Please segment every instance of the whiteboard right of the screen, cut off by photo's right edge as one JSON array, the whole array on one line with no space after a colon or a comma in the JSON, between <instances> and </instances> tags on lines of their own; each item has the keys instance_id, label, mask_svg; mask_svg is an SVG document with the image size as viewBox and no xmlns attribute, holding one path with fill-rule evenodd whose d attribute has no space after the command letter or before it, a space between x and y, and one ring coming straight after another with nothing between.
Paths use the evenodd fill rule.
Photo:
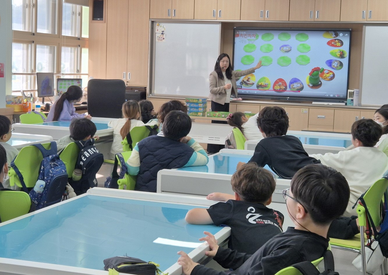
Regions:
<instances>
[{"instance_id":1,"label":"whiteboard right of the screen, cut off by photo's right edge","mask_svg":"<svg viewBox=\"0 0 388 275\"><path fill-rule=\"evenodd\" d=\"M362 64L362 106L386 104L388 26L365 26Z\"/></svg>"}]
</instances>

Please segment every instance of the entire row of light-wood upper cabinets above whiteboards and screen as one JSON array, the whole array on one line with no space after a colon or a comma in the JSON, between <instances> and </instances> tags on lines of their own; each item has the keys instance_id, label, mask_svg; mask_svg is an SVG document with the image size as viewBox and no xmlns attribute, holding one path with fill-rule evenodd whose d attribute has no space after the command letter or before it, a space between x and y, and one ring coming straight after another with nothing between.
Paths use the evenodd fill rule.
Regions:
<instances>
[{"instance_id":1,"label":"entire row of light-wood upper cabinets above whiteboards and screen","mask_svg":"<svg viewBox=\"0 0 388 275\"><path fill-rule=\"evenodd\" d=\"M387 0L151 0L150 18L388 21Z\"/></svg>"}]
</instances>

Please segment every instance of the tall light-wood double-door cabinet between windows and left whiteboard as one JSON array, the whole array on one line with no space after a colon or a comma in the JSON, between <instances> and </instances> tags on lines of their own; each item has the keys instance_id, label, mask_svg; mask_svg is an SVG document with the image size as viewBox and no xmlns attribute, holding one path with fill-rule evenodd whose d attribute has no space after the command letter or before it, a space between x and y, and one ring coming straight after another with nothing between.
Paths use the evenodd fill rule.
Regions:
<instances>
[{"instance_id":1,"label":"tall light-wood double-door cabinet between windows and left whiteboard","mask_svg":"<svg viewBox=\"0 0 388 275\"><path fill-rule=\"evenodd\" d=\"M122 79L127 86L147 86L147 2L149 0L119 0L107 3L107 79Z\"/></svg>"}]
</instances>

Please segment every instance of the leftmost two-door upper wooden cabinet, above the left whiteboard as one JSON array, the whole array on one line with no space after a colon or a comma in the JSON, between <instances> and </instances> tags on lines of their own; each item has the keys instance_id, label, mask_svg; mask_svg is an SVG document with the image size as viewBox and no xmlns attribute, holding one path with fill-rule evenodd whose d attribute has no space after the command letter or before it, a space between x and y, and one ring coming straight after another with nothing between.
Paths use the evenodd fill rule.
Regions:
<instances>
[{"instance_id":1,"label":"leftmost two-door upper wooden cabinet, above the left whiteboard","mask_svg":"<svg viewBox=\"0 0 388 275\"><path fill-rule=\"evenodd\" d=\"M150 4L149 18L194 19L194 0L151 0Z\"/></svg>"}]
</instances>

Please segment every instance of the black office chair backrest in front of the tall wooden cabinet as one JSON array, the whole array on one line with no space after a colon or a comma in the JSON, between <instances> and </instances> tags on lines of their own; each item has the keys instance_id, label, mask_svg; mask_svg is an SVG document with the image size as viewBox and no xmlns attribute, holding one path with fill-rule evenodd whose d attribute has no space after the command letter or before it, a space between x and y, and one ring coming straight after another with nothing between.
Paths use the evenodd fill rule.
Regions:
<instances>
[{"instance_id":1,"label":"black office chair backrest in front of the tall wooden cabinet","mask_svg":"<svg viewBox=\"0 0 388 275\"><path fill-rule=\"evenodd\" d=\"M125 102L125 82L120 79L88 81L88 113L98 118L121 118Z\"/></svg>"}]
</instances>

